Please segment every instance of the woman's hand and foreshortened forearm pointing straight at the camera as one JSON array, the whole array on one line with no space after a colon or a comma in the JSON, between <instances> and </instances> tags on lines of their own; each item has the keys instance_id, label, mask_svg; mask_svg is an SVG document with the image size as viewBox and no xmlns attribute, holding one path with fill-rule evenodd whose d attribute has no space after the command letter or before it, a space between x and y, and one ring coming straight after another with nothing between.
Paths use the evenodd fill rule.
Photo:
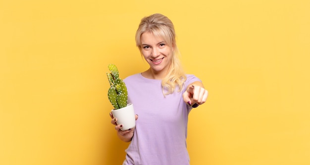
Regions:
<instances>
[{"instance_id":1,"label":"woman's hand and foreshortened forearm pointing straight at the camera","mask_svg":"<svg viewBox=\"0 0 310 165\"><path fill-rule=\"evenodd\" d=\"M183 93L184 102L189 105L202 105L206 102L208 91L205 89L202 82L193 82L186 87L186 91Z\"/></svg>"}]
</instances>

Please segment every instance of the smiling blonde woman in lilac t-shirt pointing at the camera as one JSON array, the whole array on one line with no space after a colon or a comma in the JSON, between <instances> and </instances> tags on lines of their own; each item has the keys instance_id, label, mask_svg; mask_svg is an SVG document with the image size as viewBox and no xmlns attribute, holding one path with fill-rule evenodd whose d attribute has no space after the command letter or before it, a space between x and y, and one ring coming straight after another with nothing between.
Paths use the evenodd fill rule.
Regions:
<instances>
[{"instance_id":1,"label":"smiling blonde woman in lilac t-shirt pointing at the camera","mask_svg":"<svg viewBox=\"0 0 310 165\"><path fill-rule=\"evenodd\" d=\"M136 114L136 127L118 137L130 142L123 165L189 165L186 149L188 114L206 102L207 90L194 75L186 75L177 57L178 48L172 22L153 14L141 20L136 44L150 65L142 73L124 79L128 103Z\"/></svg>"}]
</instances>

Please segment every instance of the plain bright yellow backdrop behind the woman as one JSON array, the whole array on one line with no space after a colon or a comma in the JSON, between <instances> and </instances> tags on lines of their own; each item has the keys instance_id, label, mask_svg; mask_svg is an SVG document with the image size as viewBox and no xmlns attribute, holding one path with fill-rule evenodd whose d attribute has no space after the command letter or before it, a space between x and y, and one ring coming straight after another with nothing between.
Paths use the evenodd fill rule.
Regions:
<instances>
[{"instance_id":1,"label":"plain bright yellow backdrop behind the woman","mask_svg":"<svg viewBox=\"0 0 310 165\"><path fill-rule=\"evenodd\" d=\"M157 12L209 91L191 165L309 165L309 0L0 0L0 165L120 165L105 73L147 69L134 35Z\"/></svg>"}]
</instances>

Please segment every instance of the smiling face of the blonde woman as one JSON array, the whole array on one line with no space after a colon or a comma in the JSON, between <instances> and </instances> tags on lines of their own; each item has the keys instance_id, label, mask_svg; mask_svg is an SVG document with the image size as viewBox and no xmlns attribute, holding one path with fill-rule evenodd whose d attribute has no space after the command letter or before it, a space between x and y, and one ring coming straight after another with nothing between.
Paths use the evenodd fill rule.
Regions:
<instances>
[{"instance_id":1,"label":"smiling face of the blonde woman","mask_svg":"<svg viewBox=\"0 0 310 165\"><path fill-rule=\"evenodd\" d=\"M162 37L145 32L141 35L141 48L152 72L166 74L171 63L173 47L168 46Z\"/></svg>"}]
</instances>

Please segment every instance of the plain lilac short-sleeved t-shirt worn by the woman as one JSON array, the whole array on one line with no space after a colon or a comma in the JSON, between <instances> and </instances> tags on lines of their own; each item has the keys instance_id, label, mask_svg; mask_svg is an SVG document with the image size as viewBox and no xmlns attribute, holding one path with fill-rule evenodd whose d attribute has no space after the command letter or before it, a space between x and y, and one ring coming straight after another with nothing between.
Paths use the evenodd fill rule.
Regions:
<instances>
[{"instance_id":1,"label":"plain lilac short-sleeved t-shirt worn by the woman","mask_svg":"<svg viewBox=\"0 0 310 165\"><path fill-rule=\"evenodd\" d=\"M177 92L176 88L166 96L162 94L161 80L141 74L124 79L128 103L133 104L139 119L123 165L189 165L186 137L192 107L183 101L182 94L190 83L200 80L186 76L183 91Z\"/></svg>"}]
</instances>

